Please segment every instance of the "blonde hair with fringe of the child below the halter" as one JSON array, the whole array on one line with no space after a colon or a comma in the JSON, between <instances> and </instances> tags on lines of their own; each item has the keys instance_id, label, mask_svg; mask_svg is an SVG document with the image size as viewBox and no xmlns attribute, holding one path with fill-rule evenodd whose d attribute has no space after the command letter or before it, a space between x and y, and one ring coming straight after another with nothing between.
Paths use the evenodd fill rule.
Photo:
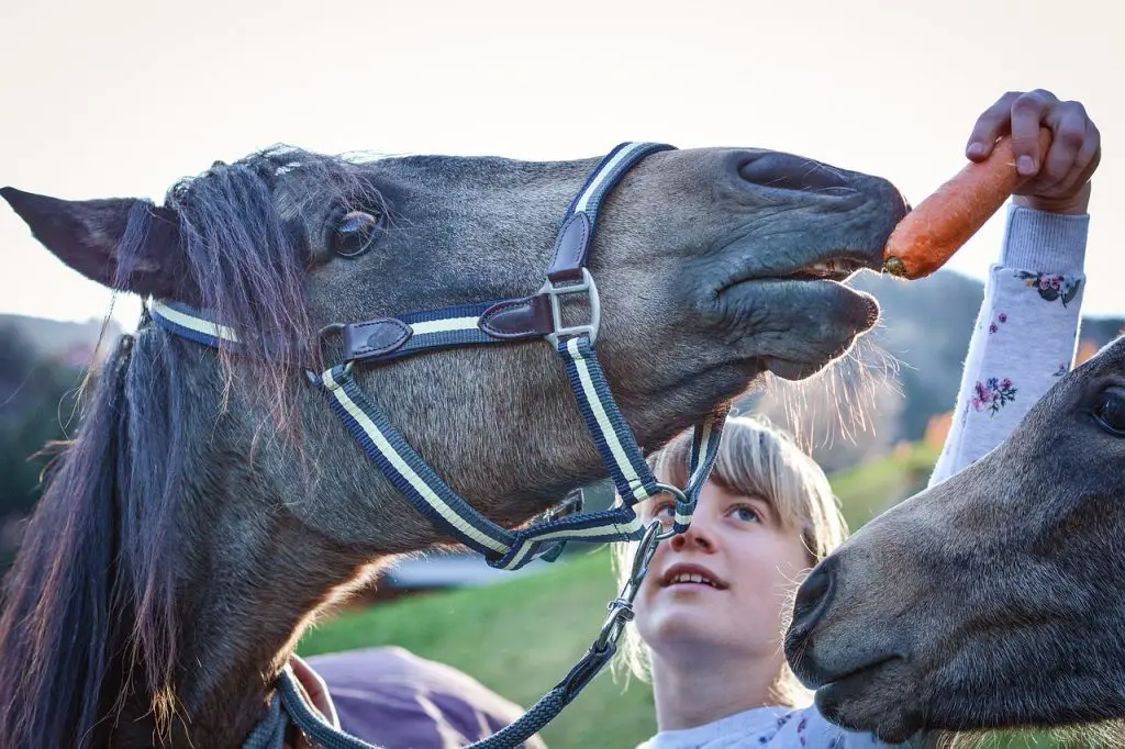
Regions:
<instances>
[{"instance_id":1,"label":"blonde hair with fringe of the child below the halter","mask_svg":"<svg viewBox=\"0 0 1125 749\"><path fill-rule=\"evenodd\" d=\"M687 480L691 446L692 434L684 432L649 455L648 464L659 480L683 487ZM788 433L763 416L727 419L709 480L734 494L767 500L783 530L800 529L810 567L847 538L847 524L824 470ZM636 548L636 543L619 543L613 548L613 569L619 585L628 578ZM626 628L613 670L616 675L623 674L627 680L629 673L644 682L650 679L648 646L641 641L636 626ZM773 692L778 703L786 706L799 706L811 698L788 665L778 674Z\"/></svg>"}]
</instances>

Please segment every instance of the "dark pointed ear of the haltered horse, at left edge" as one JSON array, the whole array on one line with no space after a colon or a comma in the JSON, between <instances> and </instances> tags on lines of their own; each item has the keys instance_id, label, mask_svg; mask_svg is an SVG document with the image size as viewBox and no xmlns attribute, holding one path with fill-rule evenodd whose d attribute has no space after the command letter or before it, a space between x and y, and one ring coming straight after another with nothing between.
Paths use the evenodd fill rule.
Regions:
<instances>
[{"instance_id":1,"label":"dark pointed ear of the haltered horse, at left edge","mask_svg":"<svg viewBox=\"0 0 1125 749\"><path fill-rule=\"evenodd\" d=\"M102 286L188 301L176 211L135 198L60 200L0 188L56 258Z\"/></svg>"}]
</instances>

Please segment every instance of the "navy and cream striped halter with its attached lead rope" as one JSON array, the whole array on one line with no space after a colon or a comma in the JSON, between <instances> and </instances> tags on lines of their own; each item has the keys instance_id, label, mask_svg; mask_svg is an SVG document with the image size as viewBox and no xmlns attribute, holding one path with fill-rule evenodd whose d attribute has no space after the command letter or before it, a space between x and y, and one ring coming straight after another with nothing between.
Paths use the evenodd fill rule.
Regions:
<instances>
[{"instance_id":1,"label":"navy and cream striped halter with its attached lead rope","mask_svg":"<svg viewBox=\"0 0 1125 749\"><path fill-rule=\"evenodd\" d=\"M567 676L518 721L470 749L507 749L518 746L569 704L605 666L616 650L624 624L632 619L632 602L659 542L687 530L716 455L727 406L720 406L694 427L687 486L681 490L652 476L629 425L613 399L595 352L601 323L597 286L586 268L593 249L597 217L610 191L649 154L673 146L622 143L590 174L572 201L555 242L547 279L532 296L476 305L447 307L384 317L363 323L333 324L322 336L339 333L344 362L316 374L306 372L322 388L332 409L371 461L422 515L498 569L515 570L534 559L554 561L568 541L602 543L640 541L633 567L621 594L609 605L610 614L587 653ZM583 295L588 321L564 326L560 298ZM210 346L238 346L234 331L205 312L186 305L151 300L153 321L170 333ZM611 509L574 513L549 512L520 531L510 531L477 512L431 469L357 385L357 364L379 364L423 352L461 345L546 340L566 363L567 379L620 500ZM670 530L659 522L645 526L633 506L658 494L676 499ZM580 495L579 495L580 497ZM580 506L580 498L577 503ZM279 677L278 695L267 718L251 733L243 749L280 749L288 721L326 749L375 749L327 723L308 707L287 666Z\"/></svg>"}]
</instances>

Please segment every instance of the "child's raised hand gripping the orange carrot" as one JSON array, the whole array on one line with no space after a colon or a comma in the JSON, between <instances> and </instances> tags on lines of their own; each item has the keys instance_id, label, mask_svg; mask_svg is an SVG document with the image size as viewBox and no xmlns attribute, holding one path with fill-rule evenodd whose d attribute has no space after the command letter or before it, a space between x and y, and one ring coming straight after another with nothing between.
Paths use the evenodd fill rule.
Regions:
<instances>
[{"instance_id":1,"label":"child's raised hand gripping the orange carrot","mask_svg":"<svg viewBox=\"0 0 1125 749\"><path fill-rule=\"evenodd\" d=\"M1040 153L1040 127L1051 130L1051 147ZM978 118L965 155L983 161L996 139L1011 135L1016 170L1028 179L1014 202L1056 214L1084 214L1090 204L1090 177L1101 160L1101 134L1086 108L1060 101L1043 89L1010 91Z\"/></svg>"}]
</instances>

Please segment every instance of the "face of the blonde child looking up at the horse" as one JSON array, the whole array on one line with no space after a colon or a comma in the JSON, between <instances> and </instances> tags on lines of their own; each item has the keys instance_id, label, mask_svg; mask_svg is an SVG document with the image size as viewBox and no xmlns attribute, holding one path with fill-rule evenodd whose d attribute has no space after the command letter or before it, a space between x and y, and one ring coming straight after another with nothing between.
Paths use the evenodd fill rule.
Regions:
<instances>
[{"instance_id":1,"label":"face of the blonde child looking up at the horse","mask_svg":"<svg viewBox=\"0 0 1125 749\"><path fill-rule=\"evenodd\" d=\"M640 514L670 522L674 507L662 496ZM663 658L765 657L780 670L784 614L810 567L800 530L783 529L772 504L709 481L691 529L652 558L637 596L637 630Z\"/></svg>"}]
</instances>

